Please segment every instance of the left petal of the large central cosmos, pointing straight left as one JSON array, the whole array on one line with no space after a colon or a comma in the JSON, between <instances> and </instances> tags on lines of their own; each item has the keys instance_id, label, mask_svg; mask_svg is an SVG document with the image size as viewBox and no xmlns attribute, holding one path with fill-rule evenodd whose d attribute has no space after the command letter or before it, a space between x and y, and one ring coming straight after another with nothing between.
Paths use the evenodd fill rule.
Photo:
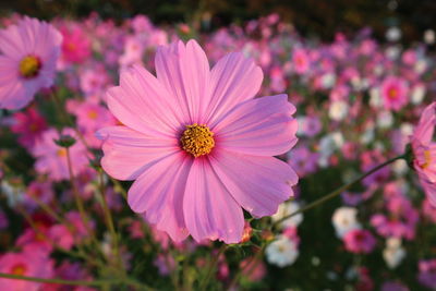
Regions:
<instances>
[{"instance_id":1,"label":"left petal of the large central cosmos, pointing straight left","mask_svg":"<svg viewBox=\"0 0 436 291\"><path fill-rule=\"evenodd\" d=\"M110 126L96 133L105 141L101 167L118 180L134 180L149 163L180 150L175 138L146 135L126 126Z\"/></svg>"}]
</instances>

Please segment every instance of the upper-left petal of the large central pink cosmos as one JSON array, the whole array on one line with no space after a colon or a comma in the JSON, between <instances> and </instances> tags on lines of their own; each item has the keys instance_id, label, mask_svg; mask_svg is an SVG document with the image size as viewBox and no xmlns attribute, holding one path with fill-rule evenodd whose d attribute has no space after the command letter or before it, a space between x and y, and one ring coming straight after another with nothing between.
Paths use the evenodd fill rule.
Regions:
<instances>
[{"instance_id":1,"label":"upper-left petal of the large central pink cosmos","mask_svg":"<svg viewBox=\"0 0 436 291\"><path fill-rule=\"evenodd\" d=\"M110 111L135 131L174 136L182 120L174 102L147 70L134 65L121 72L120 86L107 93Z\"/></svg>"}]
</instances>

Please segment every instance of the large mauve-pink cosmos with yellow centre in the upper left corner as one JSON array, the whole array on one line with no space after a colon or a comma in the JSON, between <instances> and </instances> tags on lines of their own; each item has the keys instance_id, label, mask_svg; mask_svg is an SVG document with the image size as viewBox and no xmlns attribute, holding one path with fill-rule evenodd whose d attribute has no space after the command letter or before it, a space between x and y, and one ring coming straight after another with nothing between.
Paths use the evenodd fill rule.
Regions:
<instances>
[{"instance_id":1,"label":"large mauve-pink cosmos with yellow centre in the upper left corner","mask_svg":"<svg viewBox=\"0 0 436 291\"><path fill-rule=\"evenodd\" d=\"M61 41L50 24L26 16L0 29L0 108L23 108L53 84Z\"/></svg>"}]
</instances>

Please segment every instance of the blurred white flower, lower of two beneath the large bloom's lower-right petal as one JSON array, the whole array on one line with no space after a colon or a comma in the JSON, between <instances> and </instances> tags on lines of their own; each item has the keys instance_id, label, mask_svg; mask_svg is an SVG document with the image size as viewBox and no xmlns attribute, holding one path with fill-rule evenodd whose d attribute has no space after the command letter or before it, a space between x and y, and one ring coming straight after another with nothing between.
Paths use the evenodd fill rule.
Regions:
<instances>
[{"instance_id":1,"label":"blurred white flower, lower of two beneath the large bloom's lower-right petal","mask_svg":"<svg viewBox=\"0 0 436 291\"><path fill-rule=\"evenodd\" d=\"M265 254L269 264L283 268L295 262L299 257L299 250L295 242L284 235L279 235L266 247Z\"/></svg>"}]
</instances>

